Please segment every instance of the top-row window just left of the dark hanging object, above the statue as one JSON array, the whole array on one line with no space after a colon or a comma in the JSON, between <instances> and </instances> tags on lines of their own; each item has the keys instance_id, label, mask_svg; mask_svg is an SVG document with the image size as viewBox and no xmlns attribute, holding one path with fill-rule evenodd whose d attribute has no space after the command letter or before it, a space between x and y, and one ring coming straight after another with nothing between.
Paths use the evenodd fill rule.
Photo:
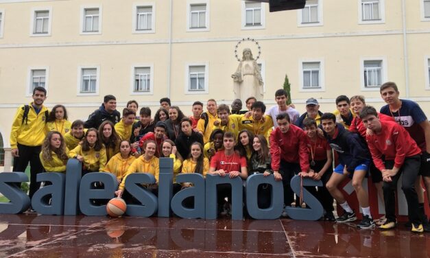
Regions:
<instances>
[{"instance_id":1,"label":"top-row window just left of the dark hanging object, above the statue","mask_svg":"<svg viewBox=\"0 0 430 258\"><path fill-rule=\"evenodd\" d=\"M253 1L242 1L242 30L262 29L265 27L265 5Z\"/></svg>"}]
</instances>

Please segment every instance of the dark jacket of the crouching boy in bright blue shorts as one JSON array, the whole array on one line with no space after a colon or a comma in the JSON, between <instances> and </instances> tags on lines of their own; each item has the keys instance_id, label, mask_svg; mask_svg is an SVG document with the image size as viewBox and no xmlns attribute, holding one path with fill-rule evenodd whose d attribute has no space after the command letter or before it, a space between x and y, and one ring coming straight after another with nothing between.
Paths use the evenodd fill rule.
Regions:
<instances>
[{"instance_id":1,"label":"dark jacket of the crouching boy in bright blue shorts","mask_svg":"<svg viewBox=\"0 0 430 258\"><path fill-rule=\"evenodd\" d=\"M350 132L341 124L336 124L339 131L335 139L326 135L330 146L339 154L339 162L346 165L346 170L354 172L355 167L370 159L370 152L359 134Z\"/></svg>"}]
</instances>

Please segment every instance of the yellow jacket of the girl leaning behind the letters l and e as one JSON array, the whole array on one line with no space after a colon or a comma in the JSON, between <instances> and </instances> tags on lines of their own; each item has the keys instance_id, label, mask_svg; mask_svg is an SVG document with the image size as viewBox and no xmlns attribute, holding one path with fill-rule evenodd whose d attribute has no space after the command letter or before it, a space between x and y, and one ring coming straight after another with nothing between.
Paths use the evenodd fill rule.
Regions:
<instances>
[{"instance_id":1,"label":"yellow jacket of the girl leaning behind the letters l and e","mask_svg":"<svg viewBox=\"0 0 430 258\"><path fill-rule=\"evenodd\" d=\"M108 158L106 157L106 149L101 148L98 152L93 148L90 148L87 152L82 150L81 145L77 145L76 148L69 152L69 157L74 158L76 155L84 157L82 163L87 170L92 172L99 172L104 169Z\"/></svg>"}]
</instances>

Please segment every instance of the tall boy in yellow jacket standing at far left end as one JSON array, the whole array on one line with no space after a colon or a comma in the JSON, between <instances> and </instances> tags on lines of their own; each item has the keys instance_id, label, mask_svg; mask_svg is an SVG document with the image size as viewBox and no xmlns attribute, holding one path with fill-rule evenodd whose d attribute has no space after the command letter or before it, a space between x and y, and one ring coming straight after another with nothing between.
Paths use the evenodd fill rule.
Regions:
<instances>
[{"instance_id":1,"label":"tall boy in yellow jacket standing at far left end","mask_svg":"<svg viewBox=\"0 0 430 258\"><path fill-rule=\"evenodd\" d=\"M40 183L36 182L36 175L43 172L39 154L45 139L45 126L49 111L45 102L47 91L41 86L33 90L33 102L18 108L12 130L10 130L10 147L14 157L14 172L25 172L30 163L29 197L39 189Z\"/></svg>"}]
</instances>

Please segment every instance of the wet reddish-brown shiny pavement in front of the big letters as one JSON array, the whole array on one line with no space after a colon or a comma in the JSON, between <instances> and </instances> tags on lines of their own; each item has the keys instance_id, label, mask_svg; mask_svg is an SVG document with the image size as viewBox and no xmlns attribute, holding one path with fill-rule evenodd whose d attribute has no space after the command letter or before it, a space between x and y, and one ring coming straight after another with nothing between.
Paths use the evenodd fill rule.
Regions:
<instances>
[{"instance_id":1,"label":"wet reddish-brown shiny pavement in front of the big letters","mask_svg":"<svg viewBox=\"0 0 430 258\"><path fill-rule=\"evenodd\" d=\"M430 257L430 233L288 219L29 213L0 215L0 257Z\"/></svg>"}]
</instances>

